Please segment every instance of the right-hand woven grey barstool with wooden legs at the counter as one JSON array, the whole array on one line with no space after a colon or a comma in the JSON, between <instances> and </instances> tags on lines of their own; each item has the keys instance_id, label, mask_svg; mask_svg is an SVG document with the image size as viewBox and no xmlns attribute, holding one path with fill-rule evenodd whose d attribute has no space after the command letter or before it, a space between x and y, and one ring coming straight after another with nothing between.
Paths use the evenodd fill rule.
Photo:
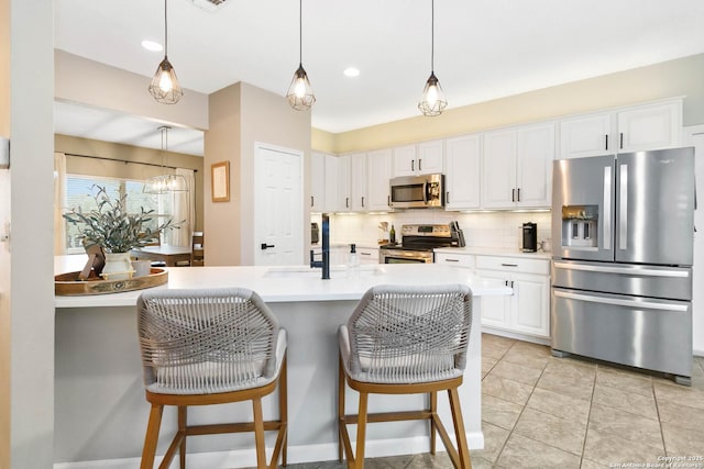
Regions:
<instances>
[{"instance_id":1,"label":"right-hand woven grey barstool with wooden legs at the counter","mask_svg":"<svg viewBox=\"0 0 704 469\"><path fill-rule=\"evenodd\" d=\"M466 364L471 305L472 293L462 284L378 286L364 294L348 324L338 332L340 461L345 456L348 467L364 468L367 423L428 420L430 453L436 453L439 433L454 467L472 467L458 395ZM360 393L356 415L344 413L345 380ZM457 448L437 414L438 391L448 391ZM418 393L430 394L428 409L367 413L369 394ZM358 425L355 453L349 424Z\"/></svg>"}]
</instances>

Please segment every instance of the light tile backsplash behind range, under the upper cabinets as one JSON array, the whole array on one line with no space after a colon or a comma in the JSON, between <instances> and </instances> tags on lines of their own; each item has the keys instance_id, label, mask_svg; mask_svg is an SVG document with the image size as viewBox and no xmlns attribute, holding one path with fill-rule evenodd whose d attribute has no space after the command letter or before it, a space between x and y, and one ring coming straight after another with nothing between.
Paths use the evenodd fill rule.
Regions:
<instances>
[{"instance_id":1,"label":"light tile backsplash behind range, under the upper cabinets","mask_svg":"<svg viewBox=\"0 0 704 469\"><path fill-rule=\"evenodd\" d=\"M538 243L550 238L550 212L446 212L442 210L407 210L405 212L366 214L344 213L330 216L330 241L336 244L358 243L374 245L383 233L381 222L396 228L397 237L404 224L448 224L457 220L471 247L518 248L521 226L526 222L538 224ZM320 223L320 214L311 222Z\"/></svg>"}]
</instances>

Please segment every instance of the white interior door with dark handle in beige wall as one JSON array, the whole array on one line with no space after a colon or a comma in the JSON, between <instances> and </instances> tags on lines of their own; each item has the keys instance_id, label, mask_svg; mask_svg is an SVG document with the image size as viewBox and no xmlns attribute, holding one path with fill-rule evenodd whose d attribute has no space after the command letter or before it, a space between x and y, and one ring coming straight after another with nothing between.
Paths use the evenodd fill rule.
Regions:
<instances>
[{"instance_id":1,"label":"white interior door with dark handle in beige wall","mask_svg":"<svg viewBox=\"0 0 704 469\"><path fill-rule=\"evenodd\" d=\"M304 263L302 152L254 147L254 265Z\"/></svg>"}]
</instances>

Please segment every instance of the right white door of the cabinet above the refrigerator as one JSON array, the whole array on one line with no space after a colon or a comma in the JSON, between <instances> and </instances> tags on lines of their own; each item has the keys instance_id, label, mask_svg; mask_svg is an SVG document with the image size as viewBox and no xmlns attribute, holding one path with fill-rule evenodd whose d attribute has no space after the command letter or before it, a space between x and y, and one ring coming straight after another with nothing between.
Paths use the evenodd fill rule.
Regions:
<instances>
[{"instance_id":1,"label":"right white door of the cabinet above the refrigerator","mask_svg":"<svg viewBox=\"0 0 704 469\"><path fill-rule=\"evenodd\" d=\"M673 148L682 144L682 101L618 113L618 152Z\"/></svg>"}]
</instances>

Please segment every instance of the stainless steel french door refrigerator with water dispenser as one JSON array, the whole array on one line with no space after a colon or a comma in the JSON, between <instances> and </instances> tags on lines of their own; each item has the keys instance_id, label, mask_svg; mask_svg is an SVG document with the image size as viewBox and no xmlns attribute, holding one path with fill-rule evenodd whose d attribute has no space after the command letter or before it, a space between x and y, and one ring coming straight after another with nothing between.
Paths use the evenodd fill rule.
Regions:
<instances>
[{"instance_id":1,"label":"stainless steel french door refrigerator with water dispenser","mask_svg":"<svg viewBox=\"0 0 704 469\"><path fill-rule=\"evenodd\" d=\"M553 355L691 384L694 191L694 148L554 161Z\"/></svg>"}]
</instances>

